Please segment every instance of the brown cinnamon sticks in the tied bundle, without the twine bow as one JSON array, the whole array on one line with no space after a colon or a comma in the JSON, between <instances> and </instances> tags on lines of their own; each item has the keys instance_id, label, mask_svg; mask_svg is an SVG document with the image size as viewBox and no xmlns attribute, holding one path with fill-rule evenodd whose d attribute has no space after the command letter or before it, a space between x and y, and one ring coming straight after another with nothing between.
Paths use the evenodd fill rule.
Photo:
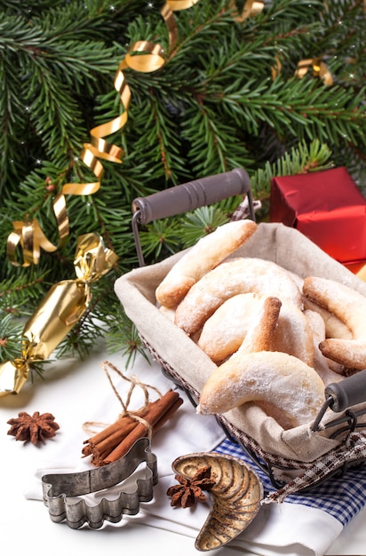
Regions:
<instances>
[{"instance_id":1,"label":"brown cinnamon sticks in the tied bundle, without the twine bow","mask_svg":"<svg viewBox=\"0 0 366 556\"><path fill-rule=\"evenodd\" d=\"M168 390L158 400L149 401L143 409L123 415L115 423L84 441L83 456L91 456L91 463L97 467L115 462L139 438L150 436L160 429L182 403L179 393Z\"/></svg>"}]
</instances>

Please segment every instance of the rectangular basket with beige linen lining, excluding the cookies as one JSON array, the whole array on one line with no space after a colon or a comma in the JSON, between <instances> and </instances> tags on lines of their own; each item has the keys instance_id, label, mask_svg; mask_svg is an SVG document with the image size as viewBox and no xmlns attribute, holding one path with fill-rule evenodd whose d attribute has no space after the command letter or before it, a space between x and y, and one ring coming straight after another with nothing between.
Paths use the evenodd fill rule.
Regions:
<instances>
[{"instance_id":1,"label":"rectangular basket with beige linen lining, excluding the cookies","mask_svg":"<svg viewBox=\"0 0 366 556\"><path fill-rule=\"evenodd\" d=\"M215 183L219 184L223 179L227 179L227 174L219 174L213 178ZM241 178L243 178L243 171ZM229 179L233 179L233 175ZM234 181L237 179L238 174L234 176ZM204 188L210 187L210 179L204 180L207 180ZM244 181L242 192L237 192L236 184L235 193L231 195L240 193L251 195L247 175L244 176ZM198 180L191 183L196 188ZM173 194L172 190L181 187L172 187L169 190L170 194ZM184 188L187 190L187 184ZM158 202L159 195L161 194L154 195L154 202ZM217 193L215 195L217 197ZM231 196L229 191L226 195ZM201 204L196 206L206 204L209 197L210 194L203 195ZM148 201L148 197L145 199ZM215 201L211 201L213 202ZM169 210L170 215L179 214L194 210L195 203L196 199L194 202L190 199L189 202L184 201L185 206L182 203L178 207L174 205L175 212L174 208L168 207L168 203L165 210ZM249 204L252 217L251 198ZM144 210L144 205L140 206ZM136 206L134 208L139 212ZM158 218L165 216L168 214L161 211ZM154 210L147 219L148 221L155 219ZM147 222L142 221L142 223ZM134 233L136 238L136 228ZM115 282L115 293L126 315L136 325L148 352L162 365L164 373L186 390L195 405L203 384L213 369L216 369L216 365L183 330L159 311L155 299L157 285L162 282L171 266L182 257L184 252L186 251L166 258L161 263L140 266L123 274ZM140 264L143 264L141 257L140 255ZM251 239L230 256L230 258L235 257L272 260L303 278L308 275L330 278L346 284L366 297L365 282L330 258L298 230L282 224L259 223ZM366 371L360 372L366 373ZM342 383L346 385L352 380L354 377L349 377ZM366 382L363 384L366 385ZM366 391L366 387L360 389L357 383L354 387L355 405L352 404L340 411L337 417L334 410L338 409L331 408L324 393L323 415L319 416L316 426L314 423L309 423L284 430L274 418L267 417L267 414L254 403L243 404L216 417L228 436L233 441L239 442L252 459L267 472L275 488L279 489L275 494L275 499L279 500L281 496L287 496L291 492L314 487L316 483L328 479L333 473L339 473L340 469L344 473L348 465L359 465L366 459L366 402L363 401L366 399L366 392L363 397L362 390ZM197 416L197 418L205 417Z\"/></svg>"}]
</instances>

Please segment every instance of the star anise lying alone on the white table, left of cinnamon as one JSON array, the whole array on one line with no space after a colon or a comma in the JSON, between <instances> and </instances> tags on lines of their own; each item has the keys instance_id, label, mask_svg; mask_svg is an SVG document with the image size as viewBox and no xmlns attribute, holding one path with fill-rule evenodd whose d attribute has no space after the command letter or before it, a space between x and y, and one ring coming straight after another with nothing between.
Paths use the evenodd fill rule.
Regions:
<instances>
[{"instance_id":1,"label":"star anise lying alone on the white table, left of cinnamon","mask_svg":"<svg viewBox=\"0 0 366 556\"><path fill-rule=\"evenodd\" d=\"M8 425L12 425L8 434L15 436L16 441L31 441L35 445L52 438L60 428L51 413L40 415L39 411L35 411L33 416L20 411L18 418L9 419Z\"/></svg>"}]
</instances>

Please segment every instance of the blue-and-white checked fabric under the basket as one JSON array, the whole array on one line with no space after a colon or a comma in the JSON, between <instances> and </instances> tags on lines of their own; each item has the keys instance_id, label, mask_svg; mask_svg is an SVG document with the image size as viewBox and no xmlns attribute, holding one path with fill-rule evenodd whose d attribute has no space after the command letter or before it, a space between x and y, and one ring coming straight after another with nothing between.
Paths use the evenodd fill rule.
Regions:
<instances>
[{"instance_id":1,"label":"blue-and-white checked fabric under the basket","mask_svg":"<svg viewBox=\"0 0 366 556\"><path fill-rule=\"evenodd\" d=\"M216 452L228 456L240 457L251 465L259 474L263 482L265 494L275 492L267 474L256 465L239 444L232 441L222 441L215 449ZM366 466L348 469L343 477L330 477L327 481L316 485L310 491L286 496L290 504L303 504L330 513L345 526L362 510L366 503Z\"/></svg>"}]
</instances>

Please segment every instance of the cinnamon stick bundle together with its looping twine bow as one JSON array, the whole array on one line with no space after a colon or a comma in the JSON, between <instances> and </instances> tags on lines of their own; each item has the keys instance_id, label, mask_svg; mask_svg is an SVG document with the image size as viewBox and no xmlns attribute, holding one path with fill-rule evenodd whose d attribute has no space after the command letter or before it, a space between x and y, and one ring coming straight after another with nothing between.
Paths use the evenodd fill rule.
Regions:
<instances>
[{"instance_id":1,"label":"cinnamon stick bundle together with its looping twine bow","mask_svg":"<svg viewBox=\"0 0 366 556\"><path fill-rule=\"evenodd\" d=\"M148 437L151 440L153 434L165 425L183 403L179 393L168 390L162 395L155 386L142 383L138 377L126 377L109 361L103 361L101 366L123 410L115 423L107 425L102 431L84 441L83 456L91 456L91 464L96 467L111 464L123 457L140 438ZM125 401L116 390L109 369L130 383ZM137 410L131 410L129 405L136 386L142 389L144 404ZM158 399L150 401L148 390L154 390L159 396ZM88 425L91 423L84 424L84 427Z\"/></svg>"}]
</instances>

